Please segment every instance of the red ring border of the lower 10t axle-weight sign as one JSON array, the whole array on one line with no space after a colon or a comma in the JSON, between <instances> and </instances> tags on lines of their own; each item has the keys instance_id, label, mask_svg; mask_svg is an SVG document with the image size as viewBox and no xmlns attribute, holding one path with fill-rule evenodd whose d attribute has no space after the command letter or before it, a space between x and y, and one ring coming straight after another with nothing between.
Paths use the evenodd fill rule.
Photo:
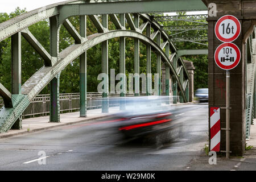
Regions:
<instances>
[{"instance_id":1,"label":"red ring border of the lower 10t axle-weight sign","mask_svg":"<svg viewBox=\"0 0 256 182\"><path fill-rule=\"evenodd\" d=\"M234 61L234 63L232 65L226 66L221 64L220 60L218 60L218 52L221 51L222 48L229 46L232 47L233 49L235 49L236 53L237 53L237 59ZM241 52L240 49L236 46L236 44L233 43L222 43L220 44L220 46L217 47L216 51L214 52L214 60L215 63L218 65L218 67L220 67L221 69L225 69L225 70L229 70L229 69L233 69L235 68L238 63L240 63L240 59L241 59Z\"/></svg>"}]
</instances>

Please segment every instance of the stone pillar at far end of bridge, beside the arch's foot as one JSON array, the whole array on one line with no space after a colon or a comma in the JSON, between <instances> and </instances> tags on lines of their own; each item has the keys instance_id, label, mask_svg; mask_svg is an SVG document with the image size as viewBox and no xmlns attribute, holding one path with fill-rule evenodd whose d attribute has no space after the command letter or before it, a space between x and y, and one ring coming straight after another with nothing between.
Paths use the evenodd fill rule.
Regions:
<instances>
[{"instance_id":1,"label":"stone pillar at far end of bridge, beside the arch's foot","mask_svg":"<svg viewBox=\"0 0 256 182\"><path fill-rule=\"evenodd\" d=\"M192 102L194 99L194 73L195 67L191 61L183 60L185 66L187 67L188 75L189 75L189 93L188 93L188 102ZM186 88L187 89L187 88ZM187 90L186 90L187 91Z\"/></svg>"}]
</instances>

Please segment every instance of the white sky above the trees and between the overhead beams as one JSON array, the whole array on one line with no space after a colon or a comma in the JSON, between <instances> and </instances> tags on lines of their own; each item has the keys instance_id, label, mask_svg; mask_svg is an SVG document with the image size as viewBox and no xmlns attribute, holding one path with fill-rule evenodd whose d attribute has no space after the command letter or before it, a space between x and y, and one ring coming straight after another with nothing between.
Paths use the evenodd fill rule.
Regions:
<instances>
[{"instance_id":1,"label":"white sky above the trees and between the overhead beams","mask_svg":"<svg viewBox=\"0 0 256 182\"><path fill-rule=\"evenodd\" d=\"M11 13L15 10L16 7L20 7L20 9L24 9L26 7L27 11L35 10L43 6L51 5L57 2L61 2L65 0L43 0L43 1L35 1L35 0L1 0L0 1L0 13ZM207 11L193 11L188 12L189 14L207 14ZM168 13L168 15L176 15L176 13Z\"/></svg>"}]
</instances>

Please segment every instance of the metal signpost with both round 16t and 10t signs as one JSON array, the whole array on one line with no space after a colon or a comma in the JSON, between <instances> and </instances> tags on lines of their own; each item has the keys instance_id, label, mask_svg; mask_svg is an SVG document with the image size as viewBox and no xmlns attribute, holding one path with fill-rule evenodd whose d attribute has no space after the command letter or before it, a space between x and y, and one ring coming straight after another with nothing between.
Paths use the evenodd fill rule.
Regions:
<instances>
[{"instance_id":1,"label":"metal signpost with both round 16t and 10t signs","mask_svg":"<svg viewBox=\"0 0 256 182\"><path fill-rule=\"evenodd\" d=\"M219 68L226 70L226 158L230 154L230 69L235 68L241 60L240 49L233 44L241 33L241 23L233 15L225 15L218 19L215 35L222 43L214 52L214 60Z\"/></svg>"}]
</instances>

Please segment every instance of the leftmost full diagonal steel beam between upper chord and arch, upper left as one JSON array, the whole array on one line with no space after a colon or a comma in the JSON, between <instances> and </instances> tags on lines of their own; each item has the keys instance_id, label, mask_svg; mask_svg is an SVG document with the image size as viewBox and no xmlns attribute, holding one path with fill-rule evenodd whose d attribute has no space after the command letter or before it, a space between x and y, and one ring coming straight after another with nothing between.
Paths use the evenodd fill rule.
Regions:
<instances>
[{"instance_id":1,"label":"leftmost full diagonal steel beam between upper chord and arch, upper left","mask_svg":"<svg viewBox=\"0 0 256 182\"><path fill-rule=\"evenodd\" d=\"M39 41L35 38L33 34L28 30L28 28L21 31L22 36L27 40L28 43L35 49L36 52L39 53L39 55L44 60L44 65L46 67L51 67L52 60L54 59L49 53L46 51L46 49L42 46L42 44L39 43ZM54 63L56 63L56 59L53 60Z\"/></svg>"}]
</instances>

